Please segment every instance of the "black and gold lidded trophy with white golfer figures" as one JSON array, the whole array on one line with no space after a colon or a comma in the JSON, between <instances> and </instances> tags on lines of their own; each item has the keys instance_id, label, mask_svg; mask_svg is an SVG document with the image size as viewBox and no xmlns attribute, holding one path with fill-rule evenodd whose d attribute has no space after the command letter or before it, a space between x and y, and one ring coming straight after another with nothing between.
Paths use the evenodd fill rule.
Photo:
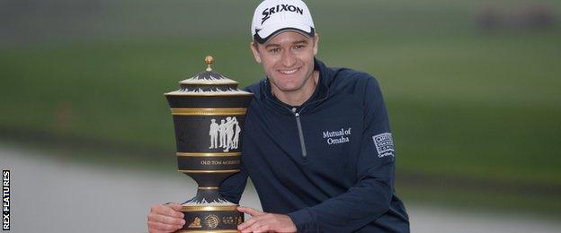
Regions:
<instances>
[{"instance_id":1,"label":"black and gold lidded trophy with white golfer figures","mask_svg":"<svg viewBox=\"0 0 561 233\"><path fill-rule=\"evenodd\" d=\"M224 179L239 172L245 112L253 94L238 82L207 69L165 93L174 116L177 167L193 178L197 194L183 203L185 225L177 232L237 232L244 213L218 193Z\"/></svg>"}]
</instances>

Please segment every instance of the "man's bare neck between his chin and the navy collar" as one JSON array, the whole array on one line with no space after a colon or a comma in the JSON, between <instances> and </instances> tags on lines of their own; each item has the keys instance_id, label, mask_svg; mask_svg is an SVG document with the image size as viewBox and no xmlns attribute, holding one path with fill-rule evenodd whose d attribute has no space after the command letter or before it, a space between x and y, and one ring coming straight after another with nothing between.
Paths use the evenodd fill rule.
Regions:
<instances>
[{"instance_id":1,"label":"man's bare neck between his chin and the navy collar","mask_svg":"<svg viewBox=\"0 0 561 233\"><path fill-rule=\"evenodd\" d=\"M289 106L301 106L307 99L312 97L316 91L317 81L319 80L319 72L314 71L312 77L304 83L301 89L296 91L280 91L274 84L271 86L272 94L280 101Z\"/></svg>"}]
</instances>

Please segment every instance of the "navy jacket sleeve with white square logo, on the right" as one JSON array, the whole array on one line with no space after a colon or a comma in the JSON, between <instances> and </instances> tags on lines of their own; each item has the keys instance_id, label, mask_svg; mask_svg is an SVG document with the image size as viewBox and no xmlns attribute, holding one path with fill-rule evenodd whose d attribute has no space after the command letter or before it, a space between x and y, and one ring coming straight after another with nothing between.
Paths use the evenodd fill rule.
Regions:
<instances>
[{"instance_id":1,"label":"navy jacket sleeve with white square logo, on the right","mask_svg":"<svg viewBox=\"0 0 561 233\"><path fill-rule=\"evenodd\" d=\"M370 76L370 75L369 75ZM366 82L357 182L346 193L289 213L298 232L351 232L377 220L393 195L395 151L378 82Z\"/></svg>"}]
</instances>

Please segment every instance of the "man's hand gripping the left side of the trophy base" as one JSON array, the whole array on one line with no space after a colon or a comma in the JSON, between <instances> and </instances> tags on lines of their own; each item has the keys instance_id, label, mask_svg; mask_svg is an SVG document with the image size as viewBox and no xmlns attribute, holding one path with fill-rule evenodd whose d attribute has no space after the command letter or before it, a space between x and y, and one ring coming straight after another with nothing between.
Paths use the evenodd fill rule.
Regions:
<instances>
[{"instance_id":1,"label":"man's hand gripping the left side of the trophy base","mask_svg":"<svg viewBox=\"0 0 561 233\"><path fill-rule=\"evenodd\" d=\"M148 213L148 230L150 233L174 232L183 228L182 206L178 203L156 204Z\"/></svg>"}]
</instances>

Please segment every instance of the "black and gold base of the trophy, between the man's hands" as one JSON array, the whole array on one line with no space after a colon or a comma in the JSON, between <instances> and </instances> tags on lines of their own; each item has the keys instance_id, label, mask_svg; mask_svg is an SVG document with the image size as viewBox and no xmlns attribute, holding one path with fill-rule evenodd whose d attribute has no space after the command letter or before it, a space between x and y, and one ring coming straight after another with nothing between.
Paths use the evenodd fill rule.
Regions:
<instances>
[{"instance_id":1,"label":"black and gold base of the trophy, between the man's hands","mask_svg":"<svg viewBox=\"0 0 561 233\"><path fill-rule=\"evenodd\" d=\"M238 232L237 225L244 222L244 213L236 211L237 205L183 204L185 225L176 232Z\"/></svg>"}]
</instances>

